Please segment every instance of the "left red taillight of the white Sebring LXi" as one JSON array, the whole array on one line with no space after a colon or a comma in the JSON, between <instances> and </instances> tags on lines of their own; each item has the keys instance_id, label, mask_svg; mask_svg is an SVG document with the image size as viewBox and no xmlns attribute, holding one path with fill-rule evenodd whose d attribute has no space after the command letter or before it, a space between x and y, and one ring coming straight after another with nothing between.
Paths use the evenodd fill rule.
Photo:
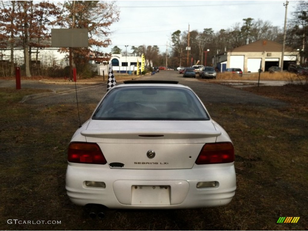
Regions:
<instances>
[{"instance_id":1,"label":"left red taillight of the white Sebring LXi","mask_svg":"<svg viewBox=\"0 0 308 231\"><path fill-rule=\"evenodd\" d=\"M68 146L68 162L84 164L106 164L107 161L98 144L87 142L72 142Z\"/></svg>"}]
</instances>

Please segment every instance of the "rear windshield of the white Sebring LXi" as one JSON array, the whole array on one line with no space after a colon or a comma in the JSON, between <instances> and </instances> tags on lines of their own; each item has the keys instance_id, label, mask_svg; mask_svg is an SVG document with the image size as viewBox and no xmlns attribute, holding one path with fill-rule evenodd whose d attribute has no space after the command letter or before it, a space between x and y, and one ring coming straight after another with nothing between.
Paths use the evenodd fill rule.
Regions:
<instances>
[{"instance_id":1,"label":"rear windshield of the white Sebring LXi","mask_svg":"<svg viewBox=\"0 0 308 231\"><path fill-rule=\"evenodd\" d=\"M189 89L179 87L121 87L111 89L93 120L209 120Z\"/></svg>"}]
</instances>

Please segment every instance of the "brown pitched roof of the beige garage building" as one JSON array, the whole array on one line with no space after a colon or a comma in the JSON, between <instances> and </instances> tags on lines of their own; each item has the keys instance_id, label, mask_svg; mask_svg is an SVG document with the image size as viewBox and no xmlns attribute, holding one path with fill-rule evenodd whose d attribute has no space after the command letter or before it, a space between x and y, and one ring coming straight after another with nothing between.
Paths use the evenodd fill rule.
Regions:
<instances>
[{"instance_id":1,"label":"brown pitched roof of the beige garage building","mask_svg":"<svg viewBox=\"0 0 308 231\"><path fill-rule=\"evenodd\" d=\"M262 39L253 43L249 43L247 45L234 48L229 52L282 52L282 44L275 43L270 40ZM295 49L291 47L285 47L286 52L295 51Z\"/></svg>"}]
</instances>

